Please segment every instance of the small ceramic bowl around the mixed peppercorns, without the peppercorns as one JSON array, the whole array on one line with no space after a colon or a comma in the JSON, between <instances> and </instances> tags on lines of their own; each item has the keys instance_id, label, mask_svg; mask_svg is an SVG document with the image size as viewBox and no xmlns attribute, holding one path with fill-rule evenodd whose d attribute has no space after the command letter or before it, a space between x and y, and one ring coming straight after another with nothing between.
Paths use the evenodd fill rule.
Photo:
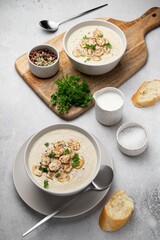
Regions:
<instances>
[{"instance_id":1,"label":"small ceramic bowl around the mixed peppercorns, without the peppercorns","mask_svg":"<svg viewBox=\"0 0 160 240\"><path fill-rule=\"evenodd\" d=\"M34 64L31 60L30 60L30 54L33 51L36 50L41 50L41 49L48 49L50 52L54 53L56 55L56 60L48 66L38 66L36 64ZM59 53L57 51L57 49L49 44L42 44L42 45L38 45L34 48L32 48L29 53L28 53L28 64L29 64L29 68L30 71L33 75L35 75L38 78L49 78L54 76L59 69Z\"/></svg>"}]
</instances>

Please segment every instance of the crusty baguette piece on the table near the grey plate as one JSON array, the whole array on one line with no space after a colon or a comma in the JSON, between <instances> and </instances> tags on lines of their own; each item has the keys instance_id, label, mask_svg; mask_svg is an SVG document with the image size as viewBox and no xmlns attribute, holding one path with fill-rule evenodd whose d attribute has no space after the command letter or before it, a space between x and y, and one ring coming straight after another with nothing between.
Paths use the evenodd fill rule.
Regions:
<instances>
[{"instance_id":1,"label":"crusty baguette piece on the table near the grey plate","mask_svg":"<svg viewBox=\"0 0 160 240\"><path fill-rule=\"evenodd\" d=\"M100 228L108 232L118 230L127 223L133 210L133 200L123 190L116 192L102 209Z\"/></svg>"}]
</instances>

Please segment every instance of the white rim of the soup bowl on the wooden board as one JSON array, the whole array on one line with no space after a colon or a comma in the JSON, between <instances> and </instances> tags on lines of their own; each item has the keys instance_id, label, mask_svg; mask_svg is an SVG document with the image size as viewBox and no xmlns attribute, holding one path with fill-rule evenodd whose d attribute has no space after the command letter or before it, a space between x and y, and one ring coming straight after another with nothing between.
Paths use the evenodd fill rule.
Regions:
<instances>
[{"instance_id":1,"label":"white rim of the soup bowl on the wooden board","mask_svg":"<svg viewBox=\"0 0 160 240\"><path fill-rule=\"evenodd\" d=\"M68 31L65 33L65 35L64 35L64 37L63 37L63 48L64 48L65 52L67 53L67 55L68 55L73 61L78 62L80 65L84 65L83 63L81 63L81 62L77 61L76 59L74 59L74 58L68 53L67 46L66 46L66 45L67 45L67 40L66 40L66 38L69 37L70 32L72 33L72 32L74 32L74 31L76 31L76 30L78 29L78 27L79 27L79 26L81 27L81 25L84 24L84 23L92 23L91 25L98 24L98 23L102 23L102 26L103 26L103 24L107 24L107 25L110 25L110 26L112 26L113 28L117 29L117 31L119 31L119 32L122 34L122 36L123 36L123 40L122 40L122 38L120 37L121 40L122 40L122 42L123 42L123 50L121 51L121 54L120 54L115 60L113 60L113 61L111 61L111 62L109 62L109 63L94 64L94 65L93 65L93 64L89 64L88 62L86 62L85 65L87 65L87 66L93 66L93 67L105 66L106 64L108 65L108 64L112 64L112 63L116 62L118 59L120 59L120 58L123 56L123 54L125 53L126 48L127 48L127 39L126 39L126 36L125 36L124 32L123 32L119 27L117 27L115 24L113 24L113 23L111 23L111 22L109 22L109 21L93 19L93 20L82 21L82 22L79 22L79 23L75 24L74 26L72 26L71 28L68 29ZM94 23L94 24L93 24L93 23ZM89 24L88 24L88 25L89 25ZM85 26L87 26L87 25L85 25ZM109 26L106 26L106 27L109 28ZM74 28L75 28L75 30L73 31ZM113 29L112 29L112 30L113 30ZM117 33L117 32L116 32L116 33ZM117 33L117 34L118 34L118 33ZM118 34L118 35L119 35L119 34Z\"/></svg>"}]
</instances>

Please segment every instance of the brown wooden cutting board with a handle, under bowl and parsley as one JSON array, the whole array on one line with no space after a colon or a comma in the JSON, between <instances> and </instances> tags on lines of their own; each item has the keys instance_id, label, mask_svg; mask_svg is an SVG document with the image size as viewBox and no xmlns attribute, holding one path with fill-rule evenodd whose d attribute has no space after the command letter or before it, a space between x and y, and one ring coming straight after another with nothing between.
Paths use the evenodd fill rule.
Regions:
<instances>
[{"instance_id":1,"label":"brown wooden cutting board with a handle, under bowl and parsley","mask_svg":"<svg viewBox=\"0 0 160 240\"><path fill-rule=\"evenodd\" d=\"M57 115L59 115L57 108L50 104L50 96L56 91L55 81L62 76L62 72L64 75L81 76L82 79L88 82L91 92L94 93L104 87L119 87L145 64L147 60L147 47L144 37L148 31L160 26L160 8L151 8L141 17L130 22L112 18L101 19L112 22L120 27L124 31L128 43L125 55L111 72L99 76L89 76L74 69L63 50L62 41L64 33L47 41L48 44L54 45L60 52L60 69L54 77L43 80L33 76L29 70L26 53L20 56L15 62L16 70L20 76ZM68 114L59 116L65 120L71 120L86 112L93 105L94 102L87 108L73 107Z\"/></svg>"}]
</instances>

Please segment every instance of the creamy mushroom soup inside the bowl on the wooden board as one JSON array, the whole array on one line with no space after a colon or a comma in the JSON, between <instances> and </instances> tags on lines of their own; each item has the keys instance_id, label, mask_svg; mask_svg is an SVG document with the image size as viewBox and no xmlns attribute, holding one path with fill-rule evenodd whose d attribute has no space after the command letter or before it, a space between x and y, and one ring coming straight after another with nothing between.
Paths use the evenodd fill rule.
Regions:
<instances>
[{"instance_id":1,"label":"creamy mushroom soup inside the bowl on the wooden board","mask_svg":"<svg viewBox=\"0 0 160 240\"><path fill-rule=\"evenodd\" d=\"M70 56L91 65L106 64L117 59L123 49L118 34L104 26L86 26L74 31L67 42Z\"/></svg>"}]
</instances>

